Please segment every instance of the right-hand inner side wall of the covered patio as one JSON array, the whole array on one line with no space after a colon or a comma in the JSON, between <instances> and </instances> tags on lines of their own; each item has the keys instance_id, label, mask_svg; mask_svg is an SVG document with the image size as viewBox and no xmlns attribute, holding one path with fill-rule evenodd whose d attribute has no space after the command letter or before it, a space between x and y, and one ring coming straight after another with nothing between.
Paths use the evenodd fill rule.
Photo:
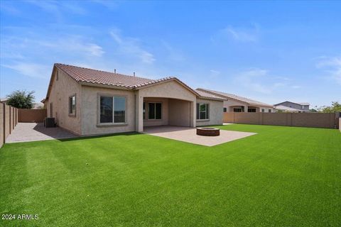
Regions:
<instances>
[{"instance_id":1,"label":"right-hand inner side wall of the covered patio","mask_svg":"<svg viewBox=\"0 0 341 227\"><path fill-rule=\"evenodd\" d=\"M190 101L169 99L169 125L190 127Z\"/></svg>"}]
</instances>

